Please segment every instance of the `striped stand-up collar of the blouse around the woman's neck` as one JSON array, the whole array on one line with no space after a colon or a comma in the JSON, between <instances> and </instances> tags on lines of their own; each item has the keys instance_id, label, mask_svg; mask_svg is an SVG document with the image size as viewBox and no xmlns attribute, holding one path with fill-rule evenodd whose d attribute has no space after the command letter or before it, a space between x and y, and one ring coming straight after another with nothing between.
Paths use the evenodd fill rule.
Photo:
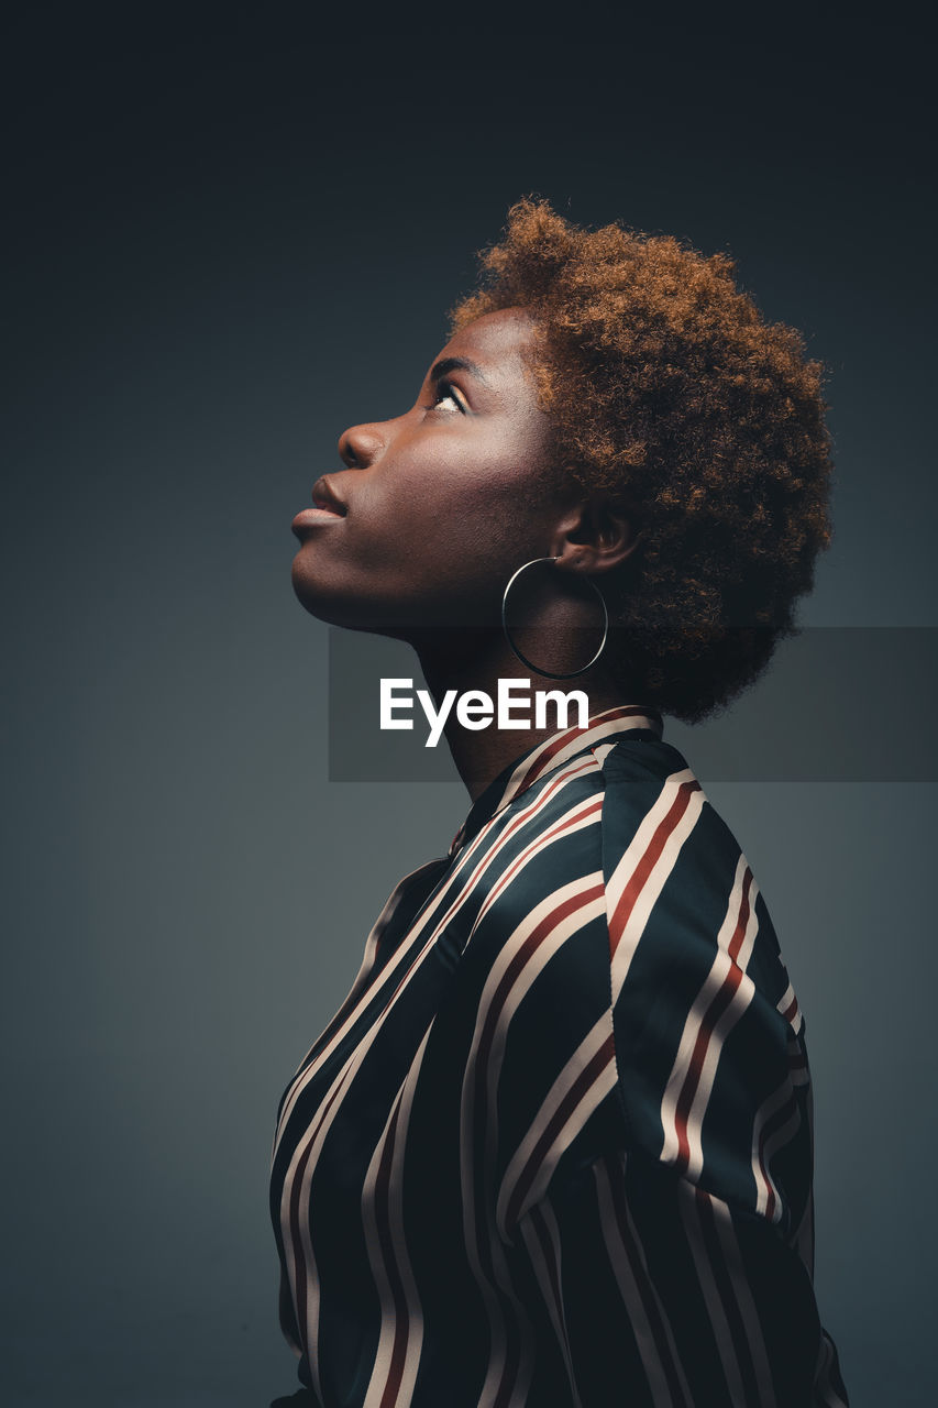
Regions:
<instances>
[{"instance_id":1,"label":"striped stand-up collar of the blouse around the woman's neck","mask_svg":"<svg viewBox=\"0 0 938 1408\"><path fill-rule=\"evenodd\" d=\"M508 763L476 797L469 815L452 838L449 856L472 841L487 821L539 777L562 767L572 758L590 752L599 743L606 743L607 749L613 748L620 735L635 729L651 731L661 738L663 721L658 710L648 704L617 704L614 708L603 710L601 714L590 714L586 728L563 728L530 748L527 753Z\"/></svg>"}]
</instances>

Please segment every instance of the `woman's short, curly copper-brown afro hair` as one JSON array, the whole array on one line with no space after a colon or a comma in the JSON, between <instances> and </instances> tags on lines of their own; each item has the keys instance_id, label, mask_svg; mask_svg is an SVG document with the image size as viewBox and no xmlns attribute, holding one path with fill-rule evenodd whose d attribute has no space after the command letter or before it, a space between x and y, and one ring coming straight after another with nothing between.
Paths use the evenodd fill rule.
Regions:
<instances>
[{"instance_id":1,"label":"woman's short, curly copper-brown afro hair","mask_svg":"<svg viewBox=\"0 0 938 1408\"><path fill-rule=\"evenodd\" d=\"M551 472L618 497L641 529L603 577L613 674L697 722L794 634L794 601L831 541L823 366L737 289L727 255L669 235L589 231L528 196L479 259L452 331L528 310Z\"/></svg>"}]
</instances>

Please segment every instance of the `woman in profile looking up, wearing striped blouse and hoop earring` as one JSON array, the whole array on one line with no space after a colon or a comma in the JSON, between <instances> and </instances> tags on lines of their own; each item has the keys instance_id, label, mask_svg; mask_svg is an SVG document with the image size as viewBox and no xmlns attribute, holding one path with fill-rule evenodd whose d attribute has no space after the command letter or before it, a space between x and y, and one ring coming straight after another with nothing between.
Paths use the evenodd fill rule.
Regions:
<instances>
[{"instance_id":1,"label":"woman in profile looking up, wearing striped blouse and hoop earring","mask_svg":"<svg viewBox=\"0 0 938 1408\"><path fill-rule=\"evenodd\" d=\"M662 738L793 629L830 539L820 367L669 238L524 200L484 269L417 403L342 435L294 589L410 641L437 704L515 680L589 718L451 710L469 815L284 1093L297 1401L845 1404L803 1019Z\"/></svg>"}]
</instances>

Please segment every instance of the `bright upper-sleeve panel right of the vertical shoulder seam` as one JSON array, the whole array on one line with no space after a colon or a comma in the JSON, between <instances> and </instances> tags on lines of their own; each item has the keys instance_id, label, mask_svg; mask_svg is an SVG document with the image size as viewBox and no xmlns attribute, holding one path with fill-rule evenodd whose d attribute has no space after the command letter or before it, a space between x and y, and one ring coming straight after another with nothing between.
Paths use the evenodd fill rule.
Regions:
<instances>
[{"instance_id":1,"label":"bright upper-sleeve panel right of the vertical shoulder seam","mask_svg":"<svg viewBox=\"0 0 938 1408\"><path fill-rule=\"evenodd\" d=\"M627 1139L780 1219L789 1214L782 1174L792 1174L796 1204L810 1181L807 1056L758 880L676 749L620 746L606 772L603 869Z\"/></svg>"}]
</instances>

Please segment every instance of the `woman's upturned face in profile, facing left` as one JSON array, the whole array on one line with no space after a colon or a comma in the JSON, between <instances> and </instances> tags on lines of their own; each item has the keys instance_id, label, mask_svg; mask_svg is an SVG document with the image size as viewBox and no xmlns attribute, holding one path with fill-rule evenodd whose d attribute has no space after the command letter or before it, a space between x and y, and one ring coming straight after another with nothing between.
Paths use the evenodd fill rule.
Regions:
<instances>
[{"instance_id":1,"label":"woman's upturned face in profile, facing left","mask_svg":"<svg viewBox=\"0 0 938 1408\"><path fill-rule=\"evenodd\" d=\"M504 584L556 551L565 500L545 490L551 422L521 353L521 308L462 328L417 403L339 439L345 470L324 474L297 514L293 589L313 615L359 629L497 625Z\"/></svg>"}]
</instances>

